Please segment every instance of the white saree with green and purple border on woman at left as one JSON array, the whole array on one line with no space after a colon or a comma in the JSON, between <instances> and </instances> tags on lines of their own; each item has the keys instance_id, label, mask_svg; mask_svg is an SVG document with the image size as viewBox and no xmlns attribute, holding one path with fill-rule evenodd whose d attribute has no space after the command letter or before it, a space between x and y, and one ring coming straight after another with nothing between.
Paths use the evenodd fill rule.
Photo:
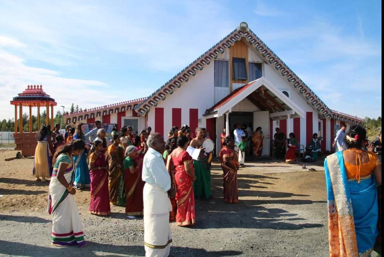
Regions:
<instances>
[{"instance_id":1,"label":"white saree with green and purple border on woman at left","mask_svg":"<svg viewBox=\"0 0 384 257\"><path fill-rule=\"evenodd\" d=\"M64 177L68 184L73 183L75 163L71 156L60 154L53 166L49 185L48 213L52 214L51 241L54 245L79 245L83 247L83 228L74 196L58 181L57 171L60 163L68 164Z\"/></svg>"}]
</instances>

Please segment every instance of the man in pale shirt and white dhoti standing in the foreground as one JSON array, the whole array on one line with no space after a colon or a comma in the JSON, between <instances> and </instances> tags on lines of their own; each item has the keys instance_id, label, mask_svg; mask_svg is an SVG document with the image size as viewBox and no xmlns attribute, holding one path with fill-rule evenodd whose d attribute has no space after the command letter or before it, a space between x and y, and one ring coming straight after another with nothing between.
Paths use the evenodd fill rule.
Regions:
<instances>
[{"instance_id":1,"label":"man in pale shirt and white dhoti standing in the foreground","mask_svg":"<svg viewBox=\"0 0 384 257\"><path fill-rule=\"evenodd\" d=\"M167 257L172 235L169 226L169 212L172 205L169 196L174 197L170 176L164 164L162 153L166 142L159 133L147 139L148 151L144 156L142 180L144 201L144 249L146 257Z\"/></svg>"}]
</instances>

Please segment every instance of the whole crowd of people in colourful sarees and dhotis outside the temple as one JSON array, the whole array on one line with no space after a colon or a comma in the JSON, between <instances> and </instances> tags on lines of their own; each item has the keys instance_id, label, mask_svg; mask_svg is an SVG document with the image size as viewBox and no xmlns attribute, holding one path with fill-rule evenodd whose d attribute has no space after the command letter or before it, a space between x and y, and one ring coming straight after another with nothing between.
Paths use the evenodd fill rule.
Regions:
<instances>
[{"instance_id":1,"label":"whole crowd of people in colourful sarees and dhotis outside the temple","mask_svg":"<svg viewBox=\"0 0 384 257\"><path fill-rule=\"evenodd\" d=\"M339 151L329 155L324 163L329 250L335 256L370 252L377 238L376 184L381 185L381 162L372 145L364 150L364 128L352 126L348 133L345 131L342 126L334 139ZM135 135L130 126L124 126L115 127L109 140L99 121L86 134L82 123L77 124L74 133L67 126L64 136L60 124L53 131L49 125L43 126L36 136L33 173L36 180L50 178L48 212L53 221L52 244L85 246L74 194L76 189L90 187L91 214L110 215L113 205L125 206L129 219L144 216L146 256L168 256L172 242L169 221L179 226L194 225L195 198L214 197L210 189L213 151L206 152L203 146L210 138L205 128L196 128L194 132L192 136L187 125L180 129L172 127L165 142L162 134L151 133L150 127ZM237 203L238 169L244 165L245 153L252 153L251 142L252 154L261 158L263 132L258 127L251 134L240 124L233 137L225 132L218 154L223 170L223 201ZM276 154L281 158L286 148L285 134L276 128L274 138ZM285 159L295 161L295 134L290 133L289 138ZM319 141L318 134L313 134L310 145L314 158L320 149ZM198 150L198 156L192 158L189 148ZM283 150L278 152L280 149ZM352 229L355 233L350 233Z\"/></svg>"}]
</instances>

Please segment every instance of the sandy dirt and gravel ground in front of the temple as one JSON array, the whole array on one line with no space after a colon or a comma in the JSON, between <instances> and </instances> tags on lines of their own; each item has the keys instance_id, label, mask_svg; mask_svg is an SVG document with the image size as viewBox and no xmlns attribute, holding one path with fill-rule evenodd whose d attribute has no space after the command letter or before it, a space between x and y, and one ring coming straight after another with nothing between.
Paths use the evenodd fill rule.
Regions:
<instances>
[{"instance_id":1,"label":"sandy dirt and gravel ground in front of the temple","mask_svg":"<svg viewBox=\"0 0 384 257\"><path fill-rule=\"evenodd\" d=\"M76 193L87 247L52 247L49 181L33 181L31 158L4 161L13 156L0 149L0 256L144 256L142 219L126 219L124 207L111 207L110 217L89 214L87 190ZM328 256L322 162L247 164L238 172L238 204L223 202L222 171L212 165L217 199L196 200L194 227L171 223L170 256Z\"/></svg>"}]
</instances>

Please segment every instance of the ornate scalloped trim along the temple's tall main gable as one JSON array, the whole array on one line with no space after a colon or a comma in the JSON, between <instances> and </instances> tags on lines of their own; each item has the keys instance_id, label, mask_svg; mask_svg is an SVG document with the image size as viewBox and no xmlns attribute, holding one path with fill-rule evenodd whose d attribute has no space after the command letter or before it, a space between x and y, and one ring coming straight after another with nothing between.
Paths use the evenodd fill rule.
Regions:
<instances>
[{"instance_id":1,"label":"ornate scalloped trim along the temple's tall main gable","mask_svg":"<svg viewBox=\"0 0 384 257\"><path fill-rule=\"evenodd\" d=\"M240 23L240 25L244 22ZM246 24L246 23L245 23ZM321 101L321 99L268 47L265 43L258 38L255 33L248 28L248 25L243 25L225 38L220 40L216 45L212 46L204 54L200 55L195 61L190 63L182 71L177 73L172 79L167 81L158 90L152 93L144 101L138 104L135 111L139 115L144 115L149 112L152 106L157 106L160 100L165 100L168 94L172 94L174 89L180 88L183 82L187 82L190 76L195 76L196 72L202 70L210 61L217 58L219 53L223 53L226 48L233 46L238 40L245 38L259 53L262 54L263 59L270 65L275 66L276 70L285 77L286 80L300 93L300 95L318 111L319 114L325 116L327 119L332 118L331 109Z\"/></svg>"}]
</instances>

